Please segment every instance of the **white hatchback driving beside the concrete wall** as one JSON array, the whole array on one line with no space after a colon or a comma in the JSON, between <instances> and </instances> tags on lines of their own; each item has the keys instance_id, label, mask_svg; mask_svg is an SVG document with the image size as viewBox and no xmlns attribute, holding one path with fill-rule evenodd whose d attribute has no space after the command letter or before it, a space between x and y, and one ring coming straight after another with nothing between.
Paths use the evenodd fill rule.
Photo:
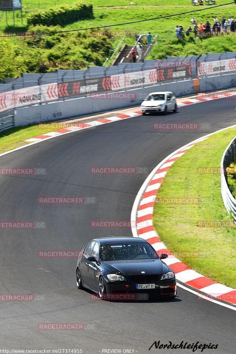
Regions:
<instances>
[{"instance_id":1,"label":"white hatchback driving beside the concrete wall","mask_svg":"<svg viewBox=\"0 0 236 354\"><path fill-rule=\"evenodd\" d=\"M151 92L145 98L140 106L143 115L146 113L163 112L167 114L168 111L177 112L176 98L172 92Z\"/></svg>"}]
</instances>

